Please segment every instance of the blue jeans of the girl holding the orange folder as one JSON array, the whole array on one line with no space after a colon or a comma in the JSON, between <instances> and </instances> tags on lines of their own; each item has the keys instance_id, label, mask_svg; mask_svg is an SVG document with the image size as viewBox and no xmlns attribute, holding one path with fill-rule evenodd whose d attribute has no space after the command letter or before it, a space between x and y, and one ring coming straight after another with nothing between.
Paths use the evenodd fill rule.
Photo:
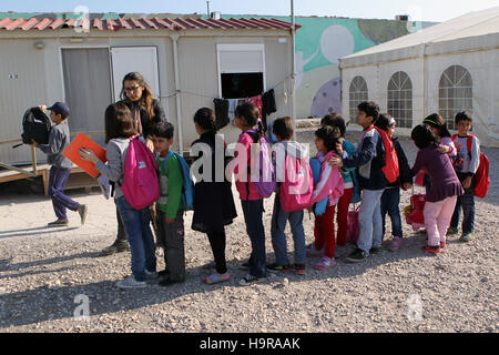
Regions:
<instances>
[{"instance_id":1,"label":"blue jeans of the girl holding the orange folder","mask_svg":"<svg viewBox=\"0 0 499 355\"><path fill-rule=\"evenodd\" d=\"M146 281L145 270L156 271L154 237L151 232L151 211L133 209L124 196L116 199L132 254L132 274L136 281Z\"/></svg>"}]
</instances>

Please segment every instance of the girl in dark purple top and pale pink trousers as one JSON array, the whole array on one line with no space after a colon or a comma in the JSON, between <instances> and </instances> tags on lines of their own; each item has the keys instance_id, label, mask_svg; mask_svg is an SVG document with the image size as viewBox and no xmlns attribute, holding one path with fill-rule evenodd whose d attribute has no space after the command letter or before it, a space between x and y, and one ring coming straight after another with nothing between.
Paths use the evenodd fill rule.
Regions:
<instances>
[{"instance_id":1,"label":"girl in dark purple top and pale pink trousers","mask_svg":"<svg viewBox=\"0 0 499 355\"><path fill-rule=\"evenodd\" d=\"M411 174L425 169L431 181L431 189L426 195L425 226L428 243L422 248L428 253L440 253L446 246L446 233L449 227L457 196L462 195L462 186L447 154L438 151L438 139L426 124L417 125L410 133L419 149Z\"/></svg>"}]
</instances>

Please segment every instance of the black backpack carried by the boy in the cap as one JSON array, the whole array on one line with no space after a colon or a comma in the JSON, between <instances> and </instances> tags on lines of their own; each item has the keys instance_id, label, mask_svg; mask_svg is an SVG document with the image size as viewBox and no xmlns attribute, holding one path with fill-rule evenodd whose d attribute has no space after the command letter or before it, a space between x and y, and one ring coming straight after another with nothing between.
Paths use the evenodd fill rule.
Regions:
<instances>
[{"instance_id":1,"label":"black backpack carried by the boy in the cap","mask_svg":"<svg viewBox=\"0 0 499 355\"><path fill-rule=\"evenodd\" d=\"M39 144L49 143L51 126L50 119L40 108L28 109L22 118L22 143L31 144L31 140Z\"/></svg>"}]
</instances>

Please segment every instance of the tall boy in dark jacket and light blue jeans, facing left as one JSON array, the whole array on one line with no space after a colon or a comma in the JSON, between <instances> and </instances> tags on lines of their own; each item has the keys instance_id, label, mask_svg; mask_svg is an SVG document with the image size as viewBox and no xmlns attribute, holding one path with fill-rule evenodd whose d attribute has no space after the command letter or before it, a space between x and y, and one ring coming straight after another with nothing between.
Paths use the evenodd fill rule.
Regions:
<instances>
[{"instance_id":1,"label":"tall boy in dark jacket and light blue jeans, facing left","mask_svg":"<svg viewBox=\"0 0 499 355\"><path fill-rule=\"evenodd\" d=\"M378 131L373 129L379 115L379 106L375 102L361 102L357 106L357 124L364 132L357 151L348 155L337 145L342 158L333 158L333 166L358 168L358 182L363 189L363 202L359 211L359 239L357 248L346 258L350 263L365 261L370 254L381 251L383 220L381 195L388 181L383 172L385 166L385 148Z\"/></svg>"}]
</instances>

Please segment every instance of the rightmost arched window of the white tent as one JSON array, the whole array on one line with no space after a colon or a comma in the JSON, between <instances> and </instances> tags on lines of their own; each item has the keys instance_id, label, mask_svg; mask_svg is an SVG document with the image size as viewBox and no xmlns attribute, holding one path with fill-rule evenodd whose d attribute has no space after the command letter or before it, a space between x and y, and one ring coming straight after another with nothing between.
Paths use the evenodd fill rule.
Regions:
<instances>
[{"instance_id":1,"label":"rightmost arched window of the white tent","mask_svg":"<svg viewBox=\"0 0 499 355\"><path fill-rule=\"evenodd\" d=\"M461 65L446 69L438 85L438 112L446 119L447 126L455 130L454 118L460 111L473 109L472 80L469 71Z\"/></svg>"}]
</instances>

